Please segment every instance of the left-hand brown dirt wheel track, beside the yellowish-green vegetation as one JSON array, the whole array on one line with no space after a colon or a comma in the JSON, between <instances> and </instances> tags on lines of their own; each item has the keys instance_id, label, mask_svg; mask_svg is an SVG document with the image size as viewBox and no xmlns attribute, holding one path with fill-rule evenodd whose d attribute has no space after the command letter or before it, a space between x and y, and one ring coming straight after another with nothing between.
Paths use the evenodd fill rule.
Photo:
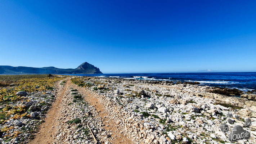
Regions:
<instances>
[{"instance_id":1,"label":"left-hand brown dirt wheel track, beside the yellowish-green vegetation","mask_svg":"<svg viewBox=\"0 0 256 144\"><path fill-rule=\"evenodd\" d=\"M61 109L61 102L62 96L65 94L65 91L68 89L68 85L70 85L70 78L66 79L66 84L63 88L58 87L60 85L59 81L57 83L57 96L56 100L53 103L51 109L46 115L45 122L42 123L39 127L39 132L37 132L35 138L29 142L29 144L51 144L53 141L53 135L56 133L54 127L59 125L57 121L58 118L61 118L60 109Z\"/></svg>"}]
</instances>

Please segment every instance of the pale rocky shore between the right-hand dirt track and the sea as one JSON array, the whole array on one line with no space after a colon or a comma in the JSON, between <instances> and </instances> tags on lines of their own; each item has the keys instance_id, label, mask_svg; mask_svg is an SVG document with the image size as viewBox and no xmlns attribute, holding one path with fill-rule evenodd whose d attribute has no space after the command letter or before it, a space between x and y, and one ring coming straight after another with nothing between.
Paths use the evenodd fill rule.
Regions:
<instances>
[{"instance_id":1,"label":"pale rocky shore between the right-hand dirt track and the sea","mask_svg":"<svg viewBox=\"0 0 256 144\"><path fill-rule=\"evenodd\" d=\"M93 91L134 143L229 143L219 125L243 126L248 117L251 138L238 142L256 142L255 101L210 93L213 87L98 77L74 82Z\"/></svg>"}]
</instances>

